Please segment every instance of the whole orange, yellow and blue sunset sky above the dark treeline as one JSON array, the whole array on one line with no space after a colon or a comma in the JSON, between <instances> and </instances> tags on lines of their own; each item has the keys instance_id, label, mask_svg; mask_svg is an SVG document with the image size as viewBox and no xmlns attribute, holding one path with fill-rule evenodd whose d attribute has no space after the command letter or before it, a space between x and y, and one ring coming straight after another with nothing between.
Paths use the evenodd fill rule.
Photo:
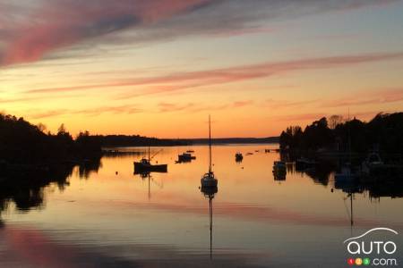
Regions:
<instances>
[{"instance_id":1,"label":"whole orange, yellow and blue sunset sky above the dark treeline","mask_svg":"<svg viewBox=\"0 0 403 268\"><path fill-rule=\"evenodd\" d=\"M73 134L269 137L403 109L403 1L0 0L0 112Z\"/></svg>"}]
</instances>

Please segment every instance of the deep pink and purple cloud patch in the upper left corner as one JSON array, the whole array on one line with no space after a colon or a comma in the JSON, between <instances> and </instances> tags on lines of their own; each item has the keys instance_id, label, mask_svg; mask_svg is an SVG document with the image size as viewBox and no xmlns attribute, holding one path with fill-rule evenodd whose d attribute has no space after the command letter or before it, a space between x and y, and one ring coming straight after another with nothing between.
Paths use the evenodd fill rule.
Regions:
<instances>
[{"instance_id":1,"label":"deep pink and purple cloud patch in the upper left corner","mask_svg":"<svg viewBox=\"0 0 403 268\"><path fill-rule=\"evenodd\" d=\"M209 0L92 0L85 3L59 0L43 4L25 24L13 29L14 38L8 40L2 64L38 61L49 52L81 40L165 20L207 2Z\"/></svg>"}]
</instances>

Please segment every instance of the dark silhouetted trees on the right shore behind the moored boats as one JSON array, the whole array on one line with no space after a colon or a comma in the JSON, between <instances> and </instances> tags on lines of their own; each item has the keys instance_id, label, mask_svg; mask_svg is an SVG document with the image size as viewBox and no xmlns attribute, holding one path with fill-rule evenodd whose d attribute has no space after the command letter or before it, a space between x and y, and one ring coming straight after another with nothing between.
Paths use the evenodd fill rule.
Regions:
<instances>
[{"instance_id":1,"label":"dark silhouetted trees on the right shore behind the moored boats","mask_svg":"<svg viewBox=\"0 0 403 268\"><path fill-rule=\"evenodd\" d=\"M403 154L403 113L379 113L369 122L345 121L339 115L313 121L304 130L288 127L279 138L283 150L316 152L320 149L367 153L379 150Z\"/></svg>"}]
</instances>

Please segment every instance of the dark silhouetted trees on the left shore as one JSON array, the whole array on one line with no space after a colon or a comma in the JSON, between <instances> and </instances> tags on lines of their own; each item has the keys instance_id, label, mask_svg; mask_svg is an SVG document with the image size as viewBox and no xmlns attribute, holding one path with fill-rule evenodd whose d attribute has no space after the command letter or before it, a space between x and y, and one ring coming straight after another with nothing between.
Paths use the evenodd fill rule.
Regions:
<instances>
[{"instance_id":1,"label":"dark silhouetted trees on the left shore","mask_svg":"<svg viewBox=\"0 0 403 268\"><path fill-rule=\"evenodd\" d=\"M99 138L81 132L76 138L62 124L45 133L23 118L0 113L0 163L61 163L100 157Z\"/></svg>"}]
</instances>

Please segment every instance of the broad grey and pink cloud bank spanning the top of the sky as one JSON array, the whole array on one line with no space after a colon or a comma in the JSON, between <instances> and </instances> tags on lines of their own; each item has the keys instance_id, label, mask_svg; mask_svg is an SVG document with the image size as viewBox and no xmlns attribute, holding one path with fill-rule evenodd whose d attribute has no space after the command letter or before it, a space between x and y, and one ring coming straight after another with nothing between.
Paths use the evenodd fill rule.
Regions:
<instances>
[{"instance_id":1,"label":"broad grey and pink cloud bank spanning the top of the sky","mask_svg":"<svg viewBox=\"0 0 403 268\"><path fill-rule=\"evenodd\" d=\"M267 30L261 29L261 21L392 2L396 1L33 0L15 4L3 0L0 65L38 61L88 40L127 45L189 35L255 33Z\"/></svg>"}]
</instances>

